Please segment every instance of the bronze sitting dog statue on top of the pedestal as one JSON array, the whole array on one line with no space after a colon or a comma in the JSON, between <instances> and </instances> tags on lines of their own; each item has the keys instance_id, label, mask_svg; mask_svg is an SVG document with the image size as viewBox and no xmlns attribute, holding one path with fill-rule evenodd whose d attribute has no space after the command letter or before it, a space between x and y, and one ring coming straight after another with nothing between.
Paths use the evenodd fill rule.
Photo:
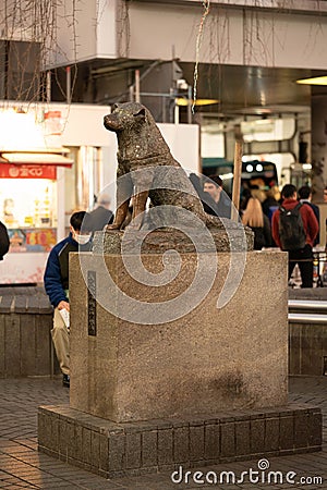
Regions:
<instances>
[{"instance_id":1,"label":"bronze sitting dog statue on top of the pedestal","mask_svg":"<svg viewBox=\"0 0 327 490\"><path fill-rule=\"evenodd\" d=\"M136 230L142 226L137 217L145 211L148 197L153 206L184 208L208 228L223 228L218 217L205 213L196 191L172 157L148 109L137 102L116 105L112 113L105 117L104 124L118 138L118 208L113 223L107 229L119 230L122 226L132 195L132 226ZM161 173L160 168L164 170ZM137 172L140 170L143 171ZM119 179L122 176L124 179ZM162 181L166 183L160 188Z\"/></svg>"}]
</instances>

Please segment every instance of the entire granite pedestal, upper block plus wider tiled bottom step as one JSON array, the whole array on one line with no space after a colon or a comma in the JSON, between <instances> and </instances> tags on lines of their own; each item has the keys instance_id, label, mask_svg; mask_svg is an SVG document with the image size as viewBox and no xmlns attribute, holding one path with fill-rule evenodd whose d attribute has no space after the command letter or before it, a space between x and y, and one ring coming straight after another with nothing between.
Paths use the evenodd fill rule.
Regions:
<instances>
[{"instance_id":1,"label":"entire granite pedestal, upper block plus wider tiled bottom step","mask_svg":"<svg viewBox=\"0 0 327 490\"><path fill-rule=\"evenodd\" d=\"M120 254L72 254L70 406L39 409L40 451L108 477L320 448L320 411L287 404L287 255L249 253L222 308L230 255L204 256L204 273L218 260L205 297L147 324L136 309L142 321L126 320L135 304L122 298L154 308L182 298L196 254L180 254L178 277L154 287L131 278ZM160 255L142 260L162 272Z\"/></svg>"}]
</instances>

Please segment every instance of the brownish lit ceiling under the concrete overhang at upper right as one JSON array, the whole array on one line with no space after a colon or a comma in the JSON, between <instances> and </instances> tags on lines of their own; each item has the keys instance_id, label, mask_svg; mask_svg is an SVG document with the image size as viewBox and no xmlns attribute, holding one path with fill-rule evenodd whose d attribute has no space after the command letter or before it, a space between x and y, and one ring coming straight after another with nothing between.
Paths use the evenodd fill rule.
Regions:
<instances>
[{"instance_id":1,"label":"brownish lit ceiling under the concrete overhang at upper right","mask_svg":"<svg viewBox=\"0 0 327 490\"><path fill-rule=\"evenodd\" d=\"M194 64L180 63L187 83L193 85ZM197 97L217 99L202 112L221 118L307 112L314 94L327 87L299 85L296 79L319 76L322 71L300 69L199 65Z\"/></svg>"}]
</instances>

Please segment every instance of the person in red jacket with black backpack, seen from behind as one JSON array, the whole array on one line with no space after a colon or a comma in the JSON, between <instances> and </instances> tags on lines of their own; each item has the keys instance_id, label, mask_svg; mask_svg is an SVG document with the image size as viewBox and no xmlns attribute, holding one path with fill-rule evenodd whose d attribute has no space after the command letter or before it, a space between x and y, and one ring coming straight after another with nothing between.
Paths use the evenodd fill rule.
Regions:
<instances>
[{"instance_id":1,"label":"person in red jacket with black backpack, seen from behind","mask_svg":"<svg viewBox=\"0 0 327 490\"><path fill-rule=\"evenodd\" d=\"M298 201L294 185L284 185L281 197L282 204L272 215L272 238L279 248L289 254L289 279L298 264L302 279L301 287L312 287L312 248L319 231L318 221L307 204Z\"/></svg>"}]
</instances>

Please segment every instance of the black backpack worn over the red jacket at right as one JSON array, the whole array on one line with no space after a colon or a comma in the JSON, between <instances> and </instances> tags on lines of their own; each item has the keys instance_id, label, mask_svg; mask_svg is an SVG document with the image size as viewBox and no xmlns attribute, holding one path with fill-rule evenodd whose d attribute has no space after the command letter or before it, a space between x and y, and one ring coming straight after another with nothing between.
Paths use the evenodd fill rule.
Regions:
<instances>
[{"instance_id":1,"label":"black backpack worn over the red jacket at right","mask_svg":"<svg viewBox=\"0 0 327 490\"><path fill-rule=\"evenodd\" d=\"M279 207L279 240L282 250L299 250L305 246L305 230L299 203L293 209Z\"/></svg>"}]
</instances>

